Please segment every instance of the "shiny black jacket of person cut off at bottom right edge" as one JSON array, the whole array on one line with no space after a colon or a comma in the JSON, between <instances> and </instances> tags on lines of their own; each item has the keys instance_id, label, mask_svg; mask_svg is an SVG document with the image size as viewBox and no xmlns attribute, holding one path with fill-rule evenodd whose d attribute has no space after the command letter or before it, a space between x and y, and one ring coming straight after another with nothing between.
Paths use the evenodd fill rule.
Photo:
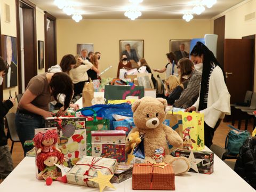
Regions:
<instances>
[{"instance_id":1,"label":"shiny black jacket of person cut off at bottom right edge","mask_svg":"<svg viewBox=\"0 0 256 192\"><path fill-rule=\"evenodd\" d=\"M245 140L234 171L256 190L256 137Z\"/></svg>"}]
</instances>

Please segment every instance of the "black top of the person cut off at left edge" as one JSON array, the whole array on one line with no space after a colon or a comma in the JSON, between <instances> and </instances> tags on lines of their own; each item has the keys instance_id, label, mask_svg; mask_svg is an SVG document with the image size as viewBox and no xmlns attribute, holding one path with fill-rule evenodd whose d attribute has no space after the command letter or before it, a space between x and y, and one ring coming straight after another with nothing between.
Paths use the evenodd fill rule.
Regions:
<instances>
[{"instance_id":1,"label":"black top of the person cut off at left edge","mask_svg":"<svg viewBox=\"0 0 256 192\"><path fill-rule=\"evenodd\" d=\"M4 132L4 116L13 107L13 103L10 100L0 102L0 146L7 145L7 138ZM14 119L13 119L14 121Z\"/></svg>"}]
</instances>

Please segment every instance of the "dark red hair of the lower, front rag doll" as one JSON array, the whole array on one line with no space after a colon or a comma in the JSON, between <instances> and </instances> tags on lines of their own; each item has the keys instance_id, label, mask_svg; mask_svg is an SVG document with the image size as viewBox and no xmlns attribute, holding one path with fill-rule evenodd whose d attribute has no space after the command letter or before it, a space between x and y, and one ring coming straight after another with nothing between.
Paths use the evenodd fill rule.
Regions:
<instances>
[{"instance_id":1,"label":"dark red hair of the lower, front rag doll","mask_svg":"<svg viewBox=\"0 0 256 192\"><path fill-rule=\"evenodd\" d=\"M48 157L57 157L59 164L63 164L63 162L65 161L64 155L62 153L60 153L59 151L53 151L50 153L41 153L41 154L37 155L37 157L36 157L36 166L38 167L38 169L40 171L43 171L45 169L46 166L44 164L44 161Z\"/></svg>"}]
</instances>

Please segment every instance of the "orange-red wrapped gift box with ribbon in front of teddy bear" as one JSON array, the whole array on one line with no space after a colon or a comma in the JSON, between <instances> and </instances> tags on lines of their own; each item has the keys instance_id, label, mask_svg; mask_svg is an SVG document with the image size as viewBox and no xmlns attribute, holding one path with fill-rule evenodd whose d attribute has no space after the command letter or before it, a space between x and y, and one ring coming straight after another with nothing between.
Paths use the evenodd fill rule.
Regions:
<instances>
[{"instance_id":1,"label":"orange-red wrapped gift box with ribbon in front of teddy bear","mask_svg":"<svg viewBox=\"0 0 256 192\"><path fill-rule=\"evenodd\" d=\"M134 164L132 189L135 190L175 190L172 165Z\"/></svg>"}]
</instances>

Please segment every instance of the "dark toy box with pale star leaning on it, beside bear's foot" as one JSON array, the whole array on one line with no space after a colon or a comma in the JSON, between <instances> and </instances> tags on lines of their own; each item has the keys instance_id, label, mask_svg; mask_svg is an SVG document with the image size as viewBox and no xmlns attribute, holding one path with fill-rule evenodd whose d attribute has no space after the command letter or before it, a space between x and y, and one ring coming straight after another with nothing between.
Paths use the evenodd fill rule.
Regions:
<instances>
[{"instance_id":1,"label":"dark toy box with pale star leaning on it, beside bear's foot","mask_svg":"<svg viewBox=\"0 0 256 192\"><path fill-rule=\"evenodd\" d=\"M190 161L191 168L189 172L194 173L213 173L213 152L210 151L190 151L176 150L175 157L187 157Z\"/></svg>"}]
</instances>

